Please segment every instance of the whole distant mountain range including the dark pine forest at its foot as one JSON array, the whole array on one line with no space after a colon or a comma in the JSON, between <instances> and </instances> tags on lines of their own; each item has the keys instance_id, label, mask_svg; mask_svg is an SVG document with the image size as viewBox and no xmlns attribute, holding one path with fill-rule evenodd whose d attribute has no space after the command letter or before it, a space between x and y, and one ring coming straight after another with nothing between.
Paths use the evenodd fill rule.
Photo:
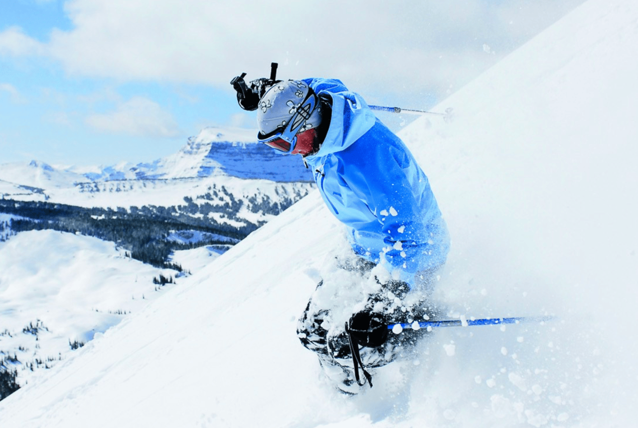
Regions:
<instances>
[{"instance_id":1,"label":"whole distant mountain range including the dark pine forest at its foot","mask_svg":"<svg viewBox=\"0 0 638 428\"><path fill-rule=\"evenodd\" d=\"M139 164L54 167L0 164L1 238L32 229L112 240L156 266L188 246L223 251L313 187L299 157L281 156L255 132L205 128L174 155Z\"/></svg>"}]
</instances>

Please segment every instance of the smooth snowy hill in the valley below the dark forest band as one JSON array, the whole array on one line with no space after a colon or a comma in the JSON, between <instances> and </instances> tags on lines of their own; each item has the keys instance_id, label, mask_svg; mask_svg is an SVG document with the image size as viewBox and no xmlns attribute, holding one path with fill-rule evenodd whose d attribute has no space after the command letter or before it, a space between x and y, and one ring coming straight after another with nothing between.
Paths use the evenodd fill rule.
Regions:
<instances>
[{"instance_id":1,"label":"smooth snowy hill in the valley below the dark forest band","mask_svg":"<svg viewBox=\"0 0 638 428\"><path fill-rule=\"evenodd\" d=\"M89 236L29 231L0 242L0 362L20 361L19 385L37 381L38 368L64 360L71 343L88 342L174 286L154 278L176 274Z\"/></svg>"}]
</instances>

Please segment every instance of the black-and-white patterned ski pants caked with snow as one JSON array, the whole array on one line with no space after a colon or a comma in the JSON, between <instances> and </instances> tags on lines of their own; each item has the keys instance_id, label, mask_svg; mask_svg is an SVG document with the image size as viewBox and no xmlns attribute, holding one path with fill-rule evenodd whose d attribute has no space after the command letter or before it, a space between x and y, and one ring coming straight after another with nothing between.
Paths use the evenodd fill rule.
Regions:
<instances>
[{"instance_id":1,"label":"black-and-white patterned ski pants caked with snow","mask_svg":"<svg viewBox=\"0 0 638 428\"><path fill-rule=\"evenodd\" d=\"M392 323L423 321L433 313L427 308L425 295L406 297L410 289L404 282L389 281L372 291L371 287L366 290L366 284L376 280L371 277L374 267L374 263L359 257L339 261L338 268L345 273L319 282L297 324L302 345L317 354L327 376L346 394L357 394L360 389L353 376L350 340L344 326L354 312L374 309L387 315ZM344 284L335 284L339 280ZM390 332L378 348L360 349L364 367L374 369L409 356L420 336Z\"/></svg>"}]
</instances>

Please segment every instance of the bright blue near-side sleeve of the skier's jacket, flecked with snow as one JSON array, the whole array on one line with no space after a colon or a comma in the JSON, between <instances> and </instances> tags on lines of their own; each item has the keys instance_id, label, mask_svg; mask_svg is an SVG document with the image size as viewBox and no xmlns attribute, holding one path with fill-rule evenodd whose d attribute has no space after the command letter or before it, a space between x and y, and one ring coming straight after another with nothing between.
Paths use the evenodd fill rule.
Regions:
<instances>
[{"instance_id":1,"label":"bright blue near-side sleeve of the skier's jacket, flecked with snow","mask_svg":"<svg viewBox=\"0 0 638 428\"><path fill-rule=\"evenodd\" d=\"M431 246L427 224L440 213L427 177L403 142L378 125L343 153L345 181L378 222L371 225L375 230L363 228L353 234L362 243L366 236L383 240L373 246L383 248L380 263L387 265L394 279L412 285Z\"/></svg>"}]
</instances>

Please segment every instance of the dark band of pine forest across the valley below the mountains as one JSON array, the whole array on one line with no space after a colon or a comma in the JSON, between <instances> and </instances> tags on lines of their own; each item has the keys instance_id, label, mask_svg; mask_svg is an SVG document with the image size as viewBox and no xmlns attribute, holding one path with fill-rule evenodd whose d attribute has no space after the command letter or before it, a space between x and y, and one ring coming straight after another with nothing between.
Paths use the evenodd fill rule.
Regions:
<instances>
[{"instance_id":1,"label":"dark band of pine forest across the valley below the mountains","mask_svg":"<svg viewBox=\"0 0 638 428\"><path fill-rule=\"evenodd\" d=\"M261 224L243 221L241 227L218 224L209 218L209 212L225 213L230 219L241 208L241 201L231 199L225 206L209 203L197 205L188 201L184 206L131 207L130 210L82 208L45 202L18 202L0 199L0 212L20 216L3 222L2 231L53 229L69 233L80 233L102 240L114 241L130 251L130 256L160 268L181 270L168 261L174 250L184 250L202 245L225 245L236 243L257 229ZM277 209L281 209L277 207ZM203 215L202 215L203 214ZM239 221L237 219L236 221ZM171 231L195 230L206 233L197 243L180 243L167 240ZM6 233L6 232L4 232Z\"/></svg>"}]
</instances>

